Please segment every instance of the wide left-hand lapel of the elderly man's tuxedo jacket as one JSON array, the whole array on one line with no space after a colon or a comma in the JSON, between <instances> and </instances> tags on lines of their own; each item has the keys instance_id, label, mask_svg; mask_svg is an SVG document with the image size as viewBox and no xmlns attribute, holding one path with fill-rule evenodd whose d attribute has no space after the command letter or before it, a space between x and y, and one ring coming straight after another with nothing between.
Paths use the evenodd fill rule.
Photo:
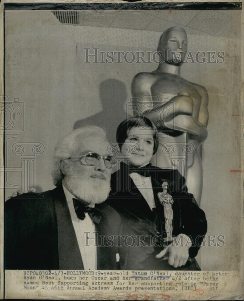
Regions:
<instances>
[{"instance_id":1,"label":"wide left-hand lapel of the elderly man's tuxedo jacket","mask_svg":"<svg viewBox=\"0 0 244 301\"><path fill-rule=\"evenodd\" d=\"M83 270L84 265L62 185L52 191L57 220L60 270Z\"/></svg>"}]
</instances>

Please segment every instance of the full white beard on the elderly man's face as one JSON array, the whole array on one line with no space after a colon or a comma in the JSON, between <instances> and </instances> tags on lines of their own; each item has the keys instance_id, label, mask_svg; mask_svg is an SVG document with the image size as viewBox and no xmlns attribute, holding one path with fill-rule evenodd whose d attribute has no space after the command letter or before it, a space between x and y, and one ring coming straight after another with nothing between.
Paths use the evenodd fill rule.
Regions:
<instances>
[{"instance_id":1,"label":"full white beard on the elderly man's face","mask_svg":"<svg viewBox=\"0 0 244 301\"><path fill-rule=\"evenodd\" d=\"M75 175L70 170L71 175L66 175L65 186L77 199L87 202L87 204L99 204L108 198L111 190L110 181L100 178L84 178L82 175Z\"/></svg>"}]
</instances>

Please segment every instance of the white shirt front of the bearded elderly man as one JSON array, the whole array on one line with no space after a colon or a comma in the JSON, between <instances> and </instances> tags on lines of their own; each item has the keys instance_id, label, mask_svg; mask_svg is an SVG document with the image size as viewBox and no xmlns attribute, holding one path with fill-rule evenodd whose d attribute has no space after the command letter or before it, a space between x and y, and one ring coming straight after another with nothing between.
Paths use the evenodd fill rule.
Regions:
<instances>
[{"instance_id":1,"label":"white shirt front of the bearded elderly man","mask_svg":"<svg viewBox=\"0 0 244 301\"><path fill-rule=\"evenodd\" d=\"M76 234L77 242L80 249L81 258L83 261L84 269L85 270L96 270L97 269L97 248L95 246L95 224L93 223L92 219L90 218L89 214L85 213L85 219L81 220L78 219L74 204L73 204L73 194L71 194L63 185L64 194L69 206L70 216L72 220L72 224L74 227L74 231ZM90 206L94 207L94 205ZM84 232L89 232L86 234ZM91 238L87 240L87 237Z\"/></svg>"}]
</instances>

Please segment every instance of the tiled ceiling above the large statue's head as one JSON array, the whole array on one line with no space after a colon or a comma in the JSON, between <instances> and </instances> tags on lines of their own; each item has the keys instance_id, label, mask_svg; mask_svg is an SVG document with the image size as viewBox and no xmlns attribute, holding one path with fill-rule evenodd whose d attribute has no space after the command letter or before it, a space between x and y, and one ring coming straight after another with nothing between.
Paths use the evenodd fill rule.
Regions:
<instances>
[{"instance_id":1,"label":"tiled ceiling above the large statue's head","mask_svg":"<svg viewBox=\"0 0 244 301\"><path fill-rule=\"evenodd\" d=\"M67 24L60 16L56 17ZM171 14L168 10L79 11L79 24L74 25L146 30L149 33L163 33L172 26L180 26L194 39L196 36L201 39L206 34L230 38L231 30L234 30L233 39L236 39L239 37L236 30L240 28L240 17L240 10L172 10Z\"/></svg>"}]
</instances>

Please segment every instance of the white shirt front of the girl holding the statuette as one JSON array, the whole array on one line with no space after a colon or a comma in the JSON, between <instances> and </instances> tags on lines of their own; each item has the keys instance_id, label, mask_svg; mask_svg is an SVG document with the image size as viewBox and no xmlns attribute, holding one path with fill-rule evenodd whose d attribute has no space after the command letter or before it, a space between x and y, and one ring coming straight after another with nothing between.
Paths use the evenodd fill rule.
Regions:
<instances>
[{"instance_id":1,"label":"white shirt front of the girl holding the statuette","mask_svg":"<svg viewBox=\"0 0 244 301\"><path fill-rule=\"evenodd\" d=\"M144 199L147 201L150 209L152 210L153 208L155 208L156 206L152 190L151 177L144 177L137 172L130 173L130 177L132 178L133 182L135 183Z\"/></svg>"}]
</instances>

